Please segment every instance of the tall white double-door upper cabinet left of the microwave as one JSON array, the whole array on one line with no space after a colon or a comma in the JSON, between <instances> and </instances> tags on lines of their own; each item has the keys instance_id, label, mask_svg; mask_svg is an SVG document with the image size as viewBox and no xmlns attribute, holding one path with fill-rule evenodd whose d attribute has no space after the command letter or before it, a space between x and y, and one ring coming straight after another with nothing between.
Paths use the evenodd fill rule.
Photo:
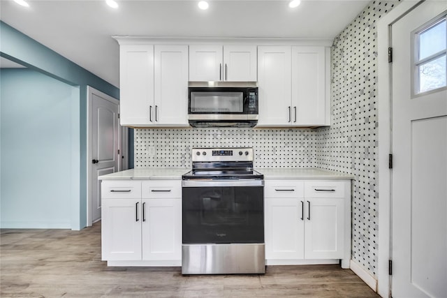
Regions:
<instances>
[{"instance_id":1,"label":"tall white double-door upper cabinet left of the microwave","mask_svg":"<svg viewBox=\"0 0 447 298\"><path fill-rule=\"evenodd\" d=\"M120 81L122 126L189 125L187 45L121 45Z\"/></svg>"}]
</instances>

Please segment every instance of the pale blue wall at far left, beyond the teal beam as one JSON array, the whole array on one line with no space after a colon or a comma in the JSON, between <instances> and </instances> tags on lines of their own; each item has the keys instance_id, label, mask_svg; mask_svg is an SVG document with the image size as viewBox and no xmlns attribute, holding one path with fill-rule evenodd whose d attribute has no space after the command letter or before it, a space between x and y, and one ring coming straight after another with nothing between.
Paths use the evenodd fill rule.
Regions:
<instances>
[{"instance_id":1,"label":"pale blue wall at far left, beyond the teal beam","mask_svg":"<svg viewBox=\"0 0 447 298\"><path fill-rule=\"evenodd\" d=\"M27 68L1 69L0 86L1 227L72 228L78 87Z\"/></svg>"}]
</instances>

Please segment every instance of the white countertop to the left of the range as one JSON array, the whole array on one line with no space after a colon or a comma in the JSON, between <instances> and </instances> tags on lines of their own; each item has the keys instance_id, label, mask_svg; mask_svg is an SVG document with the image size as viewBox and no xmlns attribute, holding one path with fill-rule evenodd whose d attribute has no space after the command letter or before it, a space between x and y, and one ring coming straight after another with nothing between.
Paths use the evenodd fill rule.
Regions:
<instances>
[{"instance_id":1,"label":"white countertop to the left of the range","mask_svg":"<svg viewBox=\"0 0 447 298\"><path fill-rule=\"evenodd\" d=\"M112 174L99 176L99 180L181 180L182 174L191 169L170 168L170 167L143 167L131 170L124 170Z\"/></svg>"}]
</instances>

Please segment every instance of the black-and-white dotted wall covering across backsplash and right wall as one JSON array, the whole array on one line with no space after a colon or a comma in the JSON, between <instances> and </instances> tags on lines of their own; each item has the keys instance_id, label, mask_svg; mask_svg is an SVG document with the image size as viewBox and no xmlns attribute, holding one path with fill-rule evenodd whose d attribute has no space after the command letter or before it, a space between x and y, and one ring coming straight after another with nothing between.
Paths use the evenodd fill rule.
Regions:
<instances>
[{"instance_id":1,"label":"black-and-white dotted wall covering across backsplash and right wall","mask_svg":"<svg viewBox=\"0 0 447 298\"><path fill-rule=\"evenodd\" d=\"M377 21L399 1L371 1L334 40L331 123L317 129L135 129L135 167L191 167L192 147L254 147L256 167L321 167L355 175L352 258L376 276ZM156 156L148 147L155 147Z\"/></svg>"}]
</instances>

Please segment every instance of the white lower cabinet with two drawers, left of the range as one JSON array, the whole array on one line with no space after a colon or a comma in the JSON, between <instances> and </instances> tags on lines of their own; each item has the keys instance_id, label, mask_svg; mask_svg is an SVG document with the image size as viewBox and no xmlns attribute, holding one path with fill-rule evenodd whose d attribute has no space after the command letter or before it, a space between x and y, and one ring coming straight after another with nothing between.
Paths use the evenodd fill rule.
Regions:
<instances>
[{"instance_id":1,"label":"white lower cabinet with two drawers, left of the range","mask_svg":"<svg viewBox=\"0 0 447 298\"><path fill-rule=\"evenodd\" d=\"M181 264L181 181L110 180L101 187L102 260L112 266Z\"/></svg>"}]
</instances>

